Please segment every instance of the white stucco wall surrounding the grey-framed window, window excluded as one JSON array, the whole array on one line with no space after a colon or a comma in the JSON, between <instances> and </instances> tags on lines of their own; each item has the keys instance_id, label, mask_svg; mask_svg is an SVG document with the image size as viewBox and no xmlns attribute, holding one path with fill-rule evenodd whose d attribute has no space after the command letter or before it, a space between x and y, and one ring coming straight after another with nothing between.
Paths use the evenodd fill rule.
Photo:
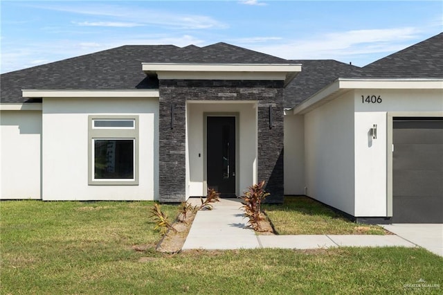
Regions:
<instances>
[{"instance_id":1,"label":"white stucco wall surrounding the grey-framed window, window excluded","mask_svg":"<svg viewBox=\"0 0 443 295\"><path fill-rule=\"evenodd\" d=\"M90 114L138 115L137 186L88 185ZM158 199L158 98L44 98L42 125L44 200Z\"/></svg>"}]
</instances>

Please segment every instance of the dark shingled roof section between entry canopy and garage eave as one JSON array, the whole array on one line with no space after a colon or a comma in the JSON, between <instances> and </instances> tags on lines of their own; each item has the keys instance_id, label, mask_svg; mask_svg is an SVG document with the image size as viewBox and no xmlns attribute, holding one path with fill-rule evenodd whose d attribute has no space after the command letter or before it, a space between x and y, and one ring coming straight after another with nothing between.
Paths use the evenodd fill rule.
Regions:
<instances>
[{"instance_id":1,"label":"dark shingled roof section between entry canopy and garage eave","mask_svg":"<svg viewBox=\"0 0 443 295\"><path fill-rule=\"evenodd\" d=\"M302 71L284 89L284 107L291 108L323 89L337 78L359 78L361 68L336 60L289 60L302 64Z\"/></svg>"}]
</instances>

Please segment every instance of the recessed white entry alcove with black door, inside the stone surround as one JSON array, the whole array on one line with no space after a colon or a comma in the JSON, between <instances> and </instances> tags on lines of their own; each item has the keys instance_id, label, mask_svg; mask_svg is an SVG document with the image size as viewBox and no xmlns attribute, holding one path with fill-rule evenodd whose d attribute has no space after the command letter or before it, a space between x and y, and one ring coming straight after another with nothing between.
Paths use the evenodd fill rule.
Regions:
<instances>
[{"instance_id":1,"label":"recessed white entry alcove with black door, inside the stone surround","mask_svg":"<svg viewBox=\"0 0 443 295\"><path fill-rule=\"evenodd\" d=\"M257 182L257 102L188 101L186 199L237 197Z\"/></svg>"}]
</instances>

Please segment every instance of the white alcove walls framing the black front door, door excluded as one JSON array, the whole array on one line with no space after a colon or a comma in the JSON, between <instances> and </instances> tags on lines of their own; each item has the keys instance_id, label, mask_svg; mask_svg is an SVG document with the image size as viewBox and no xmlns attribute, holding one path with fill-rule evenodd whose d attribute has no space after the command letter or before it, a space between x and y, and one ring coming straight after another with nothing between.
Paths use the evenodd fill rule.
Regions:
<instances>
[{"instance_id":1,"label":"white alcove walls framing the black front door, door excluded","mask_svg":"<svg viewBox=\"0 0 443 295\"><path fill-rule=\"evenodd\" d=\"M255 102L188 102L186 105L186 197L206 195L204 114L238 113L237 195L257 181L257 107ZM200 157L199 157L200 154Z\"/></svg>"}]
</instances>

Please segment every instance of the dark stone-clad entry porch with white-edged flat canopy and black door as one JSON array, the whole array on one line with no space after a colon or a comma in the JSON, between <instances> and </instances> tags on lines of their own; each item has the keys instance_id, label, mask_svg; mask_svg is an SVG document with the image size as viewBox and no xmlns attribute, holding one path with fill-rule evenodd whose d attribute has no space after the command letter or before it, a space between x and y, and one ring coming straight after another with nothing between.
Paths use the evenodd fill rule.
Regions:
<instances>
[{"instance_id":1,"label":"dark stone-clad entry porch with white-edged flat canopy and black door","mask_svg":"<svg viewBox=\"0 0 443 295\"><path fill-rule=\"evenodd\" d=\"M206 195L208 187L239 196L262 180L269 202L283 202L284 87L300 64L143 69L159 79L160 202Z\"/></svg>"}]
</instances>

